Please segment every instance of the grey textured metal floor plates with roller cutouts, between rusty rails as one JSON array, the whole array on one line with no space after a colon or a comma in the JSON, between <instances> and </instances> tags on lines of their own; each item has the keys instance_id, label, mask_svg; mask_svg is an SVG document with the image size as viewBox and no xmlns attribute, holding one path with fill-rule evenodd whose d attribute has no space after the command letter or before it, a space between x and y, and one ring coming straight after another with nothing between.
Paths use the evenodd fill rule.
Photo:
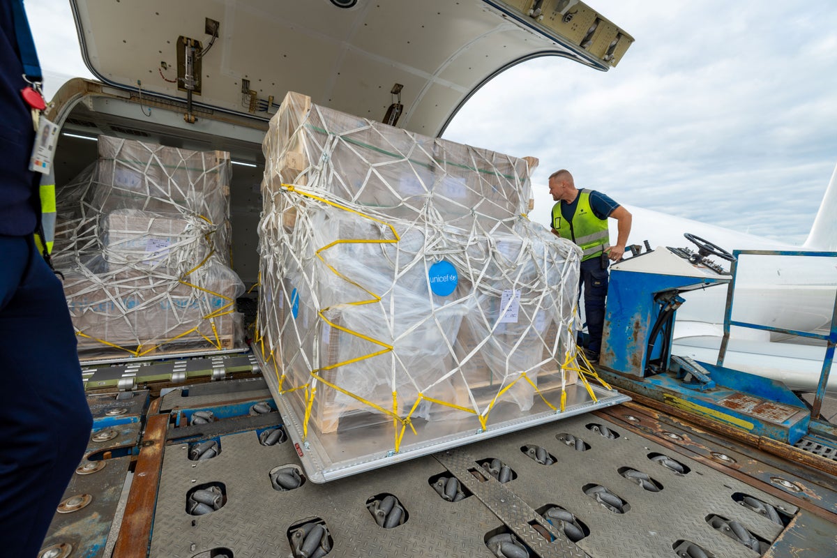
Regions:
<instances>
[{"instance_id":1,"label":"grey textured metal floor plates with roller cutouts, between rusty rails","mask_svg":"<svg viewBox=\"0 0 837 558\"><path fill-rule=\"evenodd\" d=\"M619 438L603 438L588 428L594 423L612 428ZM583 438L589 449L576 451L562 443L558 438L566 434ZM221 550L234 558L290 556L290 527L316 518L327 525L333 540L328 555L334 557L490 557L486 537L511 530L526 541L532 556L674 557L674 545L688 540L716 558L752 558L758 553L713 530L707 518L716 514L737 520L768 544L778 537L800 536L793 530L804 528L805 521L816 523L816 518L807 516L802 521L799 514L799 521L794 520L783 532L783 527L733 498L747 494L788 515L799 512L795 506L594 415L553 422L327 484L306 482L288 492L273 489L269 474L277 466L299 463L291 443L262 446L255 432L229 434L220 437L220 442L217 457L199 462L188 460L185 443L166 448L152 557L203 558ZM545 466L526 456L521 448L529 444L546 448L556 463ZM675 474L651 461L655 453L676 458L689 472ZM470 469L486 458L501 459L512 468L515 478L506 484L493 478L478 481ZM662 490L647 492L625 479L619 474L624 467L649 474ZM441 499L430 485L440 474L456 476L471 495L457 503ZM223 507L211 514L188 514L187 493L210 484L223 486ZM626 513L615 514L584 494L583 489L592 484L618 494L629 504ZM373 520L367 501L382 494L393 494L406 509L404 525L385 530ZM573 544L558 533L537 514L550 504L575 514L588 527L589 535ZM555 540L549 542L538 535L531 526L535 523L549 530ZM834 529L831 524L824 525ZM823 545L822 554L812 555L833 551L837 541L829 543L829 536L819 540L809 537L812 544Z\"/></svg>"}]
</instances>

